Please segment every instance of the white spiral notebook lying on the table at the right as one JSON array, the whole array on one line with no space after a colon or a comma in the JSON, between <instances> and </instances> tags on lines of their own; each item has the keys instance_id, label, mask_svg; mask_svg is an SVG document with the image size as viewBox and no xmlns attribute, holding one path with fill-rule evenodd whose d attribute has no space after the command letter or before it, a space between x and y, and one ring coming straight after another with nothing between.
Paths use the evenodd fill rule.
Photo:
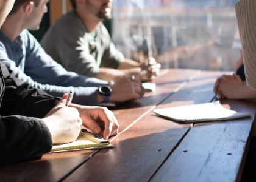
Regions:
<instances>
[{"instance_id":1,"label":"white spiral notebook lying on the table at the right","mask_svg":"<svg viewBox=\"0 0 256 182\"><path fill-rule=\"evenodd\" d=\"M155 109L155 113L171 120L196 123L203 121L234 120L236 118L249 117L249 113L240 113L226 109L219 101L205 104L193 104L188 106L168 107Z\"/></svg>"}]
</instances>

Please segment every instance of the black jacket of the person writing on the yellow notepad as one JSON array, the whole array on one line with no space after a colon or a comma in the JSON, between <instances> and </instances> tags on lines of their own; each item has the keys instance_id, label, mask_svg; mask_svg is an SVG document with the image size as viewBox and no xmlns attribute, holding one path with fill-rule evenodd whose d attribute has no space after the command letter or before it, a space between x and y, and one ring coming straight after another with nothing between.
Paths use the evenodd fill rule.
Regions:
<instances>
[{"instance_id":1,"label":"black jacket of the person writing on the yellow notepad","mask_svg":"<svg viewBox=\"0 0 256 182\"><path fill-rule=\"evenodd\" d=\"M52 147L43 118L59 101L15 78L0 63L0 164L40 157Z\"/></svg>"}]
</instances>

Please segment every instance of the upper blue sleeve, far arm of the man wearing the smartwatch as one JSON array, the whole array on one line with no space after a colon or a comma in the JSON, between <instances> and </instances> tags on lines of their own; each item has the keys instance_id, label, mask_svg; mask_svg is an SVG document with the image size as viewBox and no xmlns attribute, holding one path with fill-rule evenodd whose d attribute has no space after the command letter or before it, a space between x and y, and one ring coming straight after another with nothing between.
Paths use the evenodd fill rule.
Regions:
<instances>
[{"instance_id":1,"label":"upper blue sleeve, far arm of the man wearing the smartwatch","mask_svg":"<svg viewBox=\"0 0 256 182\"><path fill-rule=\"evenodd\" d=\"M26 46L25 73L32 75L34 81L43 84L73 87L98 87L106 84L105 81L88 78L74 72L68 72L49 56L38 41L27 30L24 33Z\"/></svg>"}]
</instances>

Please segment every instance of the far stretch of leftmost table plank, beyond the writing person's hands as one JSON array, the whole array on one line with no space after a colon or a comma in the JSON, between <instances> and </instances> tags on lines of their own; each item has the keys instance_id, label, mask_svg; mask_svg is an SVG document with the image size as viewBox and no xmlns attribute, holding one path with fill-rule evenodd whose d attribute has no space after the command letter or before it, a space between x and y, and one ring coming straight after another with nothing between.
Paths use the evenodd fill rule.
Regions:
<instances>
[{"instance_id":1,"label":"far stretch of leftmost table plank, beyond the writing person's hands","mask_svg":"<svg viewBox=\"0 0 256 182\"><path fill-rule=\"evenodd\" d=\"M117 110L113 110L120 125L119 131L123 131L127 126L137 121L140 116L146 114L157 104L179 90L197 72L197 70L170 69L167 73L155 79L155 83L157 83L155 93L147 93L143 98L124 103Z\"/></svg>"}]
</instances>

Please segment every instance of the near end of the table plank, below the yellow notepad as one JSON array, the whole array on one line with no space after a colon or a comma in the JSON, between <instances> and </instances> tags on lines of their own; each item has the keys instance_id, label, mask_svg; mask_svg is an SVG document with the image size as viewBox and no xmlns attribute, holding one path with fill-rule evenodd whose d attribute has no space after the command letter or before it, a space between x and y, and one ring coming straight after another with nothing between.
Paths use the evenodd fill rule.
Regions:
<instances>
[{"instance_id":1,"label":"near end of the table plank, below the yellow notepad","mask_svg":"<svg viewBox=\"0 0 256 182\"><path fill-rule=\"evenodd\" d=\"M57 181L90 157L93 150L52 153L41 160L0 167L0 181Z\"/></svg>"}]
</instances>

